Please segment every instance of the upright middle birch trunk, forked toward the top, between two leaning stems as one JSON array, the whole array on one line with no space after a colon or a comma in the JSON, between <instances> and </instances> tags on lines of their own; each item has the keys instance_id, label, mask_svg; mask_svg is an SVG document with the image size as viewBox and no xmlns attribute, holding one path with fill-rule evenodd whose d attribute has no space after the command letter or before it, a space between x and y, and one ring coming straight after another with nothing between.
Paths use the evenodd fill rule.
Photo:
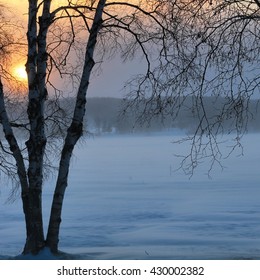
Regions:
<instances>
[{"instance_id":1,"label":"upright middle birch trunk, forked toward the top, between two leaning stems","mask_svg":"<svg viewBox=\"0 0 260 280\"><path fill-rule=\"evenodd\" d=\"M42 183L43 158L46 145L44 131L44 105L46 100L46 36L50 25L50 2L43 3L42 16L39 18L39 33L37 36L37 0L29 1L28 21L28 73L29 104L28 118L30 121L30 138L26 142L29 158L28 182L29 192L26 203L27 238L24 254L37 254L45 246L42 220Z\"/></svg>"}]
</instances>

